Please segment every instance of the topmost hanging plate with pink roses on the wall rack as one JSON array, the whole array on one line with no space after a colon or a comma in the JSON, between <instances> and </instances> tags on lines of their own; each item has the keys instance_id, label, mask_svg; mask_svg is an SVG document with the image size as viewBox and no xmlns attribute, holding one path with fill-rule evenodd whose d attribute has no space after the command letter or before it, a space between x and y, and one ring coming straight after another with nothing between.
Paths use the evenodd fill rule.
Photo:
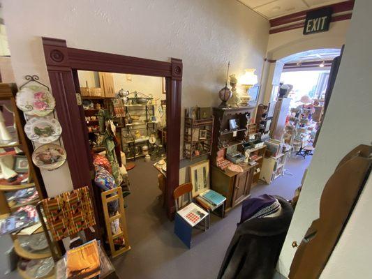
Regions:
<instances>
[{"instance_id":1,"label":"topmost hanging plate with pink roses on the wall rack","mask_svg":"<svg viewBox=\"0 0 372 279\"><path fill-rule=\"evenodd\" d=\"M15 96L17 107L27 115L45 116L56 106L52 93L40 86L24 87Z\"/></svg>"}]
</instances>

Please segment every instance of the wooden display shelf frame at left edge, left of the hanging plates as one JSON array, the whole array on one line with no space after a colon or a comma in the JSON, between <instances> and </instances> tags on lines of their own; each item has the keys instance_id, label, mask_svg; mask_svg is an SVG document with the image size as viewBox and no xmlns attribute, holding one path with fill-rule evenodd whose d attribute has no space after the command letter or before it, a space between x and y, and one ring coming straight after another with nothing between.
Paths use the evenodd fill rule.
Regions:
<instances>
[{"instance_id":1,"label":"wooden display shelf frame at left edge, left of the hanging plates","mask_svg":"<svg viewBox=\"0 0 372 279\"><path fill-rule=\"evenodd\" d=\"M4 119L6 119L6 122L11 121L14 123L13 126L6 125L8 132L14 137L14 141L9 141L8 144L5 142L1 143L0 158L3 160L2 163L6 164L4 167L8 167L9 169L13 168L13 166L10 166L9 162L14 161L17 156L27 158L28 172L20 173L17 168L14 167L14 171L17 172L17 177L15 179L6 179L4 177L0 179L0 219L8 217L11 213L17 211L18 209L22 210L22 206L35 205L40 201L40 199L47 197L42 180L40 179L40 172L38 169L34 168L32 163L32 146L31 142L26 139L24 134L23 126L25 120L15 105L16 93L17 87L15 84L0 84L0 105L6 106L7 110L11 107L10 110L13 114L11 117L12 119L5 115ZM13 128L14 126L15 128ZM16 191L28 188L35 188L38 193L38 197L30 201L15 203L14 201L9 200L9 196L16 193ZM47 257L51 257L52 255L49 248L36 251L32 250L23 243L22 239L29 235L29 233L24 233L24 229L27 229L27 227L10 234L10 237L13 239L15 253L21 258L27 260L45 259ZM44 234L43 227L41 227L41 225L34 230L34 232L31 232L31 235L35 234ZM18 268L17 271L20 273L22 278L30 278L29 275L22 269ZM47 276L46 278L54 278L54 273L50 274L52 275Z\"/></svg>"}]
</instances>

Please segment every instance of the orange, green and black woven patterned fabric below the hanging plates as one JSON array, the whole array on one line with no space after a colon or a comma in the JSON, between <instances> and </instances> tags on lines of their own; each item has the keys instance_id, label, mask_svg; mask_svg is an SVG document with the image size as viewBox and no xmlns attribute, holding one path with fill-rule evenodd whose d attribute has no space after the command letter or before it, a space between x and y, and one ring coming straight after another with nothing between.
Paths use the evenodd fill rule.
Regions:
<instances>
[{"instance_id":1,"label":"orange, green and black woven patterned fabric below the hanging plates","mask_svg":"<svg viewBox=\"0 0 372 279\"><path fill-rule=\"evenodd\" d=\"M43 209L54 241L96 224L88 187L43 199Z\"/></svg>"}]
</instances>

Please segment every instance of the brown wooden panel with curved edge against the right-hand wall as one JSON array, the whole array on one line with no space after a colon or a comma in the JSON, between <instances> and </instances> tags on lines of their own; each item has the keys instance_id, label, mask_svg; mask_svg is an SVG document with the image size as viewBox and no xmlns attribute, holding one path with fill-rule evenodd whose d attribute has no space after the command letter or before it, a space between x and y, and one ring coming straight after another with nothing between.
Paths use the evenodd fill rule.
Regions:
<instances>
[{"instance_id":1,"label":"brown wooden panel with curved edge against the right-hand wall","mask_svg":"<svg viewBox=\"0 0 372 279\"><path fill-rule=\"evenodd\" d=\"M358 202L372 168L372 146L350 151L328 179L320 198L319 218L313 220L290 266L290 279L316 279L322 274Z\"/></svg>"}]
</instances>

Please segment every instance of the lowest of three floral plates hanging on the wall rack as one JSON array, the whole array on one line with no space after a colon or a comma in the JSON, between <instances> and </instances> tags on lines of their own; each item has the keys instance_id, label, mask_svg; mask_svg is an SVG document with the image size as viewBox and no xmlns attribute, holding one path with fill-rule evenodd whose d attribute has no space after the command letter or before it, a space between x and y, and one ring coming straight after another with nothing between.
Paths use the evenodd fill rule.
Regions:
<instances>
[{"instance_id":1,"label":"lowest of three floral plates hanging on the wall rack","mask_svg":"<svg viewBox=\"0 0 372 279\"><path fill-rule=\"evenodd\" d=\"M40 145L32 153L32 161L40 169L58 169L66 162L66 151L57 144Z\"/></svg>"}]
</instances>

